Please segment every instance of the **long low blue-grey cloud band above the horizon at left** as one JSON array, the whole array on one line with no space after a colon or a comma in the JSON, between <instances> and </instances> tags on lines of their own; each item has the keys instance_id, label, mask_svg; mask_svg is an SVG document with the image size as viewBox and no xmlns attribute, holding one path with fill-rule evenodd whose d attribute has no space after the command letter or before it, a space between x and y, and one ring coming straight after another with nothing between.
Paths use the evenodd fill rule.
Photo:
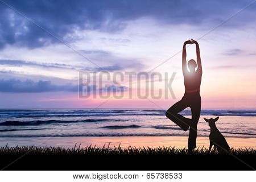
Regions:
<instances>
[{"instance_id":1,"label":"long low blue-grey cloud band above the horizon at left","mask_svg":"<svg viewBox=\"0 0 256 182\"><path fill-rule=\"evenodd\" d=\"M102 88L97 88L96 85L55 85L51 81L38 82L32 80L21 81L18 79L0 80L0 92L9 93L40 93L40 92L78 92L82 90L83 92L125 92L127 90L126 86L104 86Z\"/></svg>"}]
</instances>

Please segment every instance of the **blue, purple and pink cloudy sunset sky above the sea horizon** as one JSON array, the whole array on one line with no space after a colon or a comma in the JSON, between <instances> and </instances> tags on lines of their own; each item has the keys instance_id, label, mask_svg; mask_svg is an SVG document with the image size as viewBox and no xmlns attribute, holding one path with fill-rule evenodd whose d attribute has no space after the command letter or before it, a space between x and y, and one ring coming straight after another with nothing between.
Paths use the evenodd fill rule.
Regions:
<instances>
[{"instance_id":1,"label":"blue, purple and pink cloudy sunset sky above the sea horizon","mask_svg":"<svg viewBox=\"0 0 256 182\"><path fill-rule=\"evenodd\" d=\"M184 94L181 50L192 38L203 65L202 108L255 109L253 2L0 1L0 108L168 109ZM102 72L109 78L101 85ZM172 94L163 96L173 73ZM89 97L80 97L81 84ZM152 97L159 89L162 97Z\"/></svg>"}]
</instances>

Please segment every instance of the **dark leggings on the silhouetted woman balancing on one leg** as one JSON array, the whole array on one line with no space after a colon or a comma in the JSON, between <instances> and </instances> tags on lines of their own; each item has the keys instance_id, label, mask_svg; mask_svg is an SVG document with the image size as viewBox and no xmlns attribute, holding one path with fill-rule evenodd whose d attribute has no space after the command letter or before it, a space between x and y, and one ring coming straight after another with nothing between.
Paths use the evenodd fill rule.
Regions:
<instances>
[{"instance_id":1,"label":"dark leggings on the silhouetted woman balancing on one leg","mask_svg":"<svg viewBox=\"0 0 256 182\"><path fill-rule=\"evenodd\" d=\"M185 118L180 115L180 111L183 111L187 107L190 107L192 118ZM201 96L200 93L185 93L183 98L170 107L166 112L166 117L171 119L172 122L180 126L181 129L187 131L189 126L189 137L188 137L188 149L196 148L196 137L197 137L197 123L199 121L201 113Z\"/></svg>"}]
</instances>

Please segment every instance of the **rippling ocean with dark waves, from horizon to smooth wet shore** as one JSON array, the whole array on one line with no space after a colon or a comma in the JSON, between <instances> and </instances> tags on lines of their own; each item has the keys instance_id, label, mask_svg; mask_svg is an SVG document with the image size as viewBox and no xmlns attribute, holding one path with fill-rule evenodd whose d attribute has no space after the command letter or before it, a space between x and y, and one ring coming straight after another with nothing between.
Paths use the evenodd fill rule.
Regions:
<instances>
[{"instance_id":1,"label":"rippling ocean with dark waves, from horizon to smooth wet shore","mask_svg":"<svg viewBox=\"0 0 256 182\"><path fill-rule=\"evenodd\" d=\"M1 109L0 146L27 144L42 138L73 137L171 137L188 136L156 109ZM191 118L191 111L182 115ZM201 110L199 137L208 137L210 127L204 118L216 122L225 137L256 138L256 110ZM33 140L31 140L33 138Z\"/></svg>"}]
</instances>

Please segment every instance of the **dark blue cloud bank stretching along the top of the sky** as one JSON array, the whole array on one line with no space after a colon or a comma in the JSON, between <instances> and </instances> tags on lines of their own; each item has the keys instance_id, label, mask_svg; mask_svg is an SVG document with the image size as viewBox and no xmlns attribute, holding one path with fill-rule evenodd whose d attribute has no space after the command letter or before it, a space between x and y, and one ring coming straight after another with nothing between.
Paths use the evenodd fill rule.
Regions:
<instances>
[{"instance_id":1,"label":"dark blue cloud bank stretching along the top of the sky","mask_svg":"<svg viewBox=\"0 0 256 182\"><path fill-rule=\"evenodd\" d=\"M72 37L79 30L100 30L116 32L123 30L128 22L139 18L154 19L160 24L190 24L210 26L225 20L247 5L246 1L6 1L53 35L60 39ZM243 11L243 15L255 11L255 6ZM241 16L240 16L241 17ZM42 47L59 40L35 24L15 13L9 7L0 5L0 48L6 44L22 47ZM236 23L254 21L253 18L232 19ZM235 24L235 25L234 25ZM129 41L129 40L126 40Z\"/></svg>"}]
</instances>

